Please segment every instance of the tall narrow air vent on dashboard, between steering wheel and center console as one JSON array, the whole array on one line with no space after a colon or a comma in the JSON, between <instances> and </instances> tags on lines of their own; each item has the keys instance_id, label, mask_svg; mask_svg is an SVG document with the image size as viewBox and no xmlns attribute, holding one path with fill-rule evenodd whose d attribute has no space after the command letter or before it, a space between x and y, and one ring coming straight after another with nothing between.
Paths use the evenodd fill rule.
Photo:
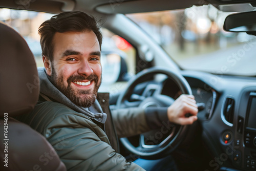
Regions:
<instances>
[{"instance_id":1,"label":"tall narrow air vent on dashboard, between steering wheel and center console","mask_svg":"<svg viewBox=\"0 0 256 171\"><path fill-rule=\"evenodd\" d=\"M226 98L223 114L227 122L233 123L234 116L234 99Z\"/></svg>"}]
</instances>

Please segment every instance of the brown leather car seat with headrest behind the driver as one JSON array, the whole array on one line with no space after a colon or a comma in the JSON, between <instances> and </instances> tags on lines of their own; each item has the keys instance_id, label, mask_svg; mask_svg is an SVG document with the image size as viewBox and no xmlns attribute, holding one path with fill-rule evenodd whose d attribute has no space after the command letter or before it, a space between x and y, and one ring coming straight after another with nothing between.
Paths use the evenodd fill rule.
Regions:
<instances>
[{"instance_id":1,"label":"brown leather car seat with headrest behind the driver","mask_svg":"<svg viewBox=\"0 0 256 171\"><path fill-rule=\"evenodd\" d=\"M35 59L26 41L0 22L0 170L66 170L45 137L13 117L39 96Z\"/></svg>"}]
</instances>

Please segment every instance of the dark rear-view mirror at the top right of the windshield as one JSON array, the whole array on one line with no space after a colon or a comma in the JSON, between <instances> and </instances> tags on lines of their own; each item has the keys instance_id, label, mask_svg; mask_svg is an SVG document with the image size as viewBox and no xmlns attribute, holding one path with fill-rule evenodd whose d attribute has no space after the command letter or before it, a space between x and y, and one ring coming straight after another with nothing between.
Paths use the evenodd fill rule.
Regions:
<instances>
[{"instance_id":1,"label":"dark rear-view mirror at the top right of the windshield","mask_svg":"<svg viewBox=\"0 0 256 171\"><path fill-rule=\"evenodd\" d=\"M256 11L230 14L226 17L223 29L230 32L246 32L256 35Z\"/></svg>"}]
</instances>

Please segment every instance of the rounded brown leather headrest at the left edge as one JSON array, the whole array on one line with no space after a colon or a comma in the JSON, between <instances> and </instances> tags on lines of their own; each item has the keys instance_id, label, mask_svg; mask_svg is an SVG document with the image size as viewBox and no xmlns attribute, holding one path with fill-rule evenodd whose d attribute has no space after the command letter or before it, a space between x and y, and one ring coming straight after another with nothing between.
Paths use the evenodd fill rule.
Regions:
<instances>
[{"instance_id":1,"label":"rounded brown leather headrest at the left edge","mask_svg":"<svg viewBox=\"0 0 256 171\"><path fill-rule=\"evenodd\" d=\"M39 95L36 63L27 42L14 29L0 23L0 118L34 108Z\"/></svg>"}]
</instances>

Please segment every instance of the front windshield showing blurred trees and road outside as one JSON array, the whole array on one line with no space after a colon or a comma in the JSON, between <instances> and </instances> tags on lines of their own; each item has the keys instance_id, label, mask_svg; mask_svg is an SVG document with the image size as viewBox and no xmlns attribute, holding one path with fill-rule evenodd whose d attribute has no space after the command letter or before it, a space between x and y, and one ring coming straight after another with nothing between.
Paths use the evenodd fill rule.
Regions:
<instances>
[{"instance_id":1,"label":"front windshield showing blurred trees and road outside","mask_svg":"<svg viewBox=\"0 0 256 171\"><path fill-rule=\"evenodd\" d=\"M255 76L256 38L224 31L229 14L205 5L126 16L151 35L182 69Z\"/></svg>"}]
</instances>

